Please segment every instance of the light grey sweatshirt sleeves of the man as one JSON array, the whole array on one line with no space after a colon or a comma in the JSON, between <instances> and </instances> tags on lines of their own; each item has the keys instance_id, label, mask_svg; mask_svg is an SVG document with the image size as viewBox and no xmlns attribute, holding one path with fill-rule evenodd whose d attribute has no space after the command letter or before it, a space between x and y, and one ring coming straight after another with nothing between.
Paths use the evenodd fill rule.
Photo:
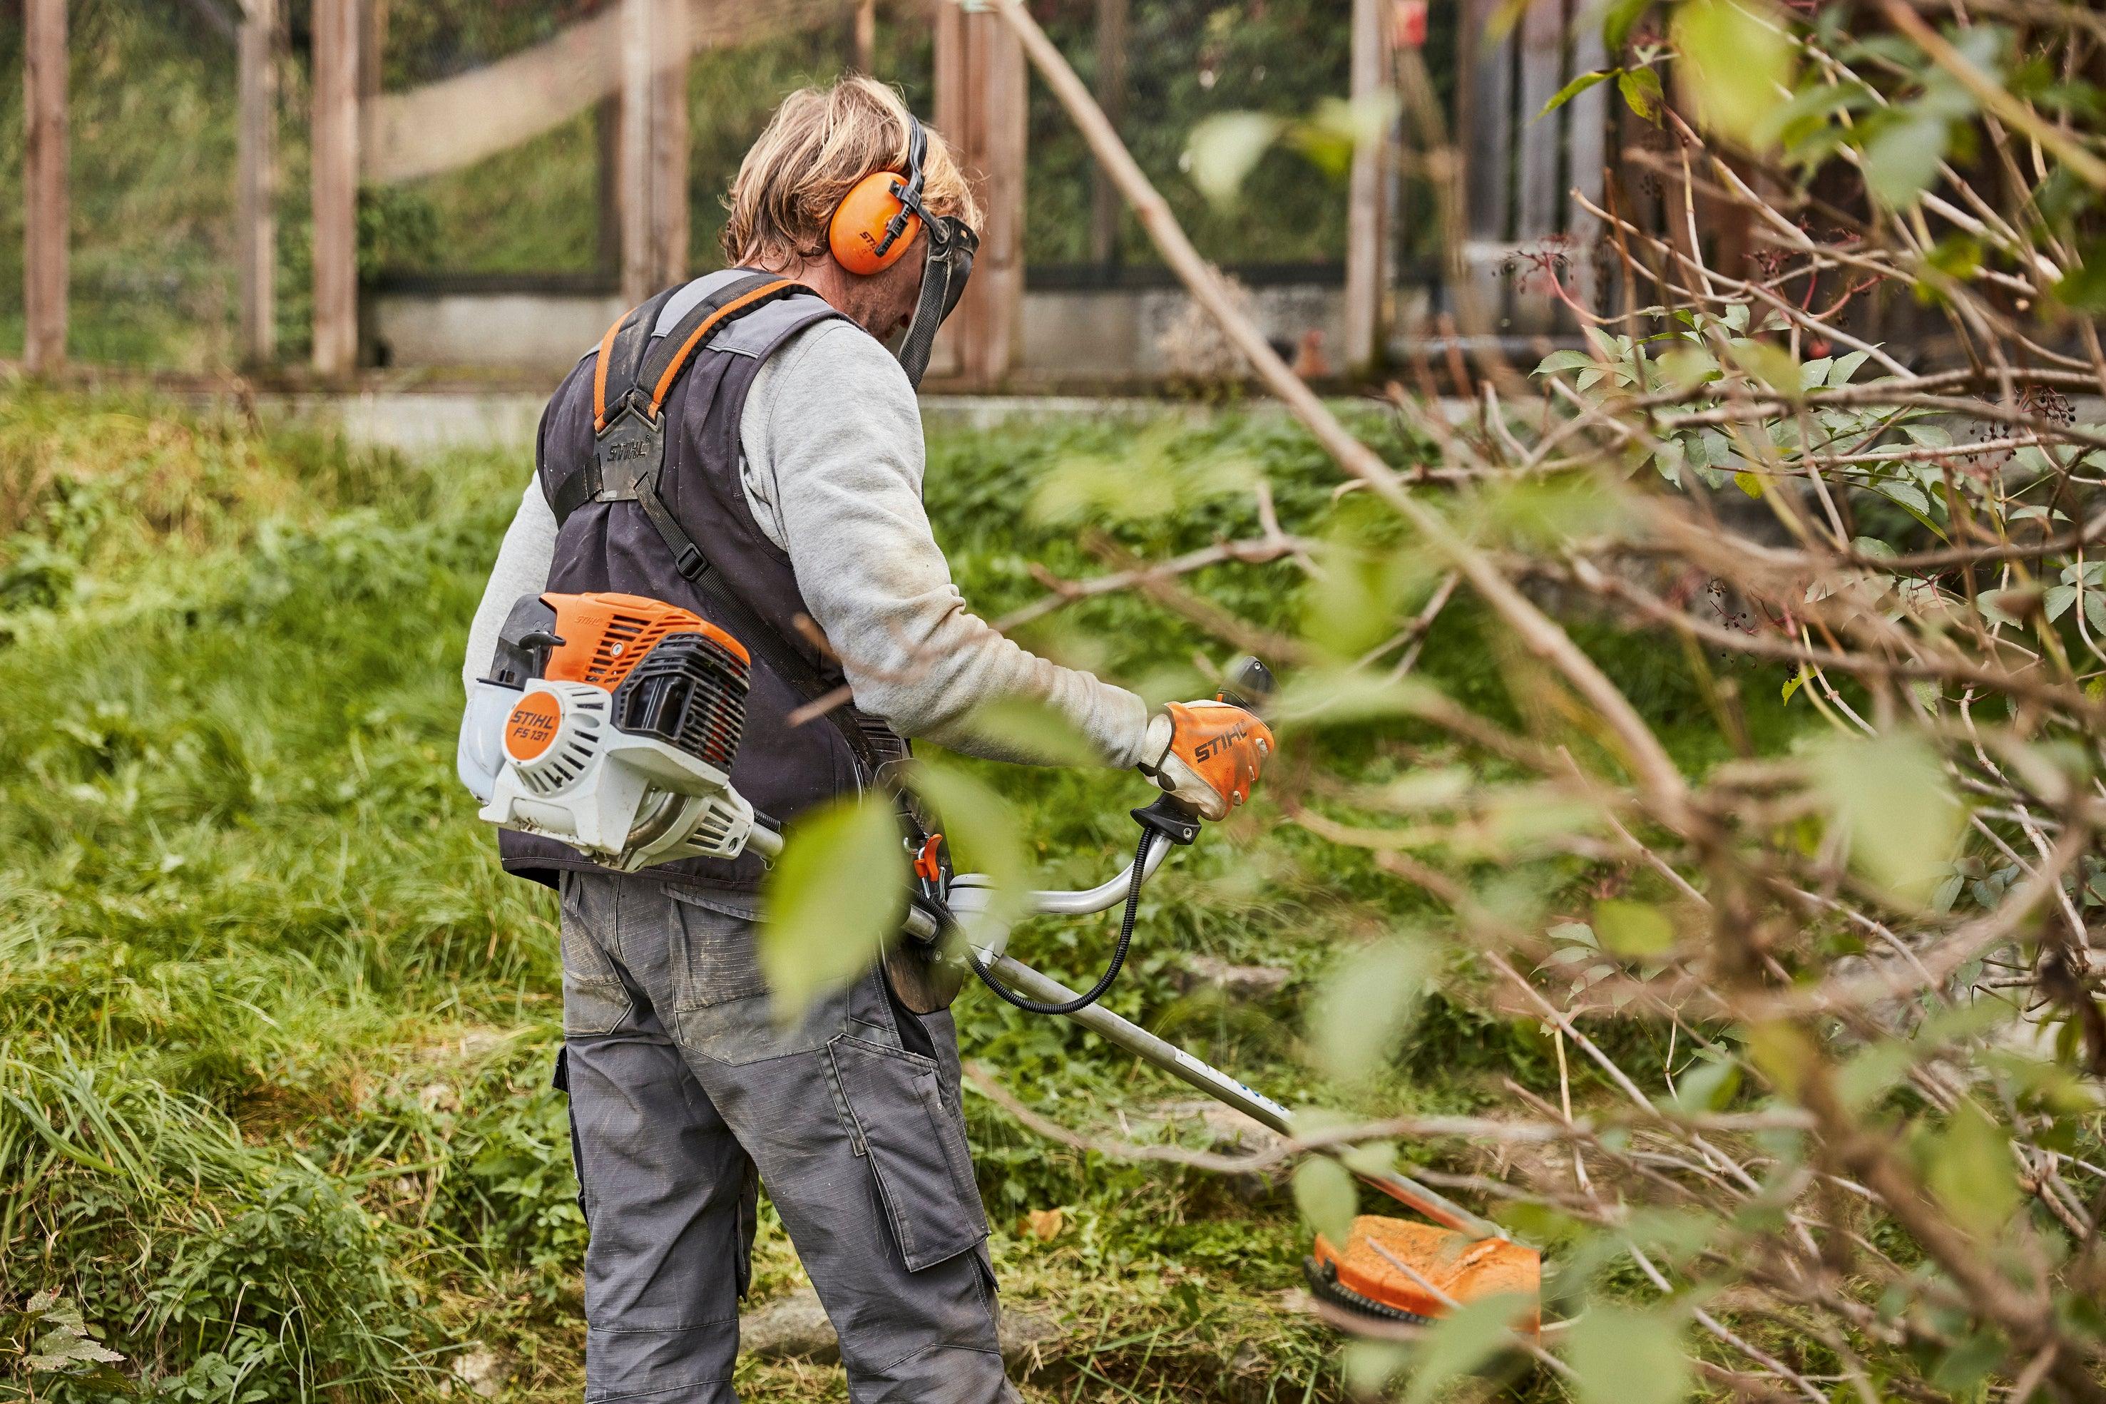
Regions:
<instances>
[{"instance_id":1,"label":"light grey sweatshirt sleeves of the man","mask_svg":"<svg viewBox=\"0 0 2106 1404\"><path fill-rule=\"evenodd\" d=\"M922 509L914 387L876 339L840 320L798 333L754 379L739 446L746 501L790 554L857 707L908 737L1026 760L971 724L990 703L1026 699L1068 718L1106 764L1141 758L1139 697L1026 653L965 608ZM468 629L470 690L512 602L548 585L554 551L556 518L529 480Z\"/></svg>"}]
</instances>

